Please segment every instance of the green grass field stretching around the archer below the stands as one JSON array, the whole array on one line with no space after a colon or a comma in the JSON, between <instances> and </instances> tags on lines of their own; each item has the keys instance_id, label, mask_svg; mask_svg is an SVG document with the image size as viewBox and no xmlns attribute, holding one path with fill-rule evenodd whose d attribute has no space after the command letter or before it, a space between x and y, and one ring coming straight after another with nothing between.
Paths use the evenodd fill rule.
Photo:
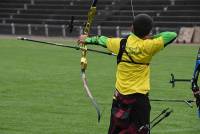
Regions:
<instances>
[{"instance_id":1,"label":"green grass field stretching around the archer below the stands","mask_svg":"<svg viewBox=\"0 0 200 134\"><path fill-rule=\"evenodd\" d=\"M198 47L171 45L154 57L150 98L193 99L189 83L171 88L169 80L170 73L191 78ZM83 89L79 62L80 52L73 49L0 39L0 134L106 134L116 59L88 53L86 74L103 112L100 124ZM151 105L152 119L167 107L174 110L153 134L200 133L195 104L194 108L185 103Z\"/></svg>"}]
</instances>

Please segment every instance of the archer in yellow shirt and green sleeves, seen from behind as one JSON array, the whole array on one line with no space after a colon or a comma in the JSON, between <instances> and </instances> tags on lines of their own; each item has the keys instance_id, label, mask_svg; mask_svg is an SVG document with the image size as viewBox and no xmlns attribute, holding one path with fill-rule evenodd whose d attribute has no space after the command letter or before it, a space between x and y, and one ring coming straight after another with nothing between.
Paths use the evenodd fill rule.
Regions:
<instances>
[{"instance_id":1,"label":"archer in yellow shirt and green sleeves, seen from behind","mask_svg":"<svg viewBox=\"0 0 200 134\"><path fill-rule=\"evenodd\" d=\"M107 48L117 55L116 83L108 134L150 133L150 62L160 50L172 43L175 32L149 36L153 19L138 14L127 38L81 35L78 43Z\"/></svg>"}]
</instances>

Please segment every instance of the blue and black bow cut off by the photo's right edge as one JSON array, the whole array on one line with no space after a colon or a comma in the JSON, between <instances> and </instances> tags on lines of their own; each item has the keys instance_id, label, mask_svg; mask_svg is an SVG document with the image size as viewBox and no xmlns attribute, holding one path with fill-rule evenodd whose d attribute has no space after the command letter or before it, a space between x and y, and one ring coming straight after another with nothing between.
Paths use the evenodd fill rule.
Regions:
<instances>
[{"instance_id":1,"label":"blue and black bow cut off by the photo's right edge","mask_svg":"<svg viewBox=\"0 0 200 134\"><path fill-rule=\"evenodd\" d=\"M199 72L200 72L200 48L197 54L196 65L195 65L195 69L194 69L194 73L193 73L193 77L191 81L192 91L193 91L194 97L196 98L198 116L200 118L200 89L198 85Z\"/></svg>"}]
</instances>

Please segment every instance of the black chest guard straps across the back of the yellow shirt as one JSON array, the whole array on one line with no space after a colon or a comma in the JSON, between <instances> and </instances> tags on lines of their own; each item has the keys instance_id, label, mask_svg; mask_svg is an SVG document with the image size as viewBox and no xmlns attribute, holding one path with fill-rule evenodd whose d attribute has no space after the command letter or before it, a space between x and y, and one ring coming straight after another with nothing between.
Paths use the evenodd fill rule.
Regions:
<instances>
[{"instance_id":1,"label":"black chest guard straps across the back of the yellow shirt","mask_svg":"<svg viewBox=\"0 0 200 134\"><path fill-rule=\"evenodd\" d=\"M133 63L133 64L140 64L140 65L149 65L149 63L139 63L139 62L135 62L132 57L128 54L128 52L126 51L126 42L127 39L122 39L120 41L120 48L119 48L119 53L117 55L117 64L119 64L120 62L127 62L127 63ZM126 53L126 55L129 57L130 61L126 61L126 60L122 60L122 55L123 53Z\"/></svg>"}]
</instances>

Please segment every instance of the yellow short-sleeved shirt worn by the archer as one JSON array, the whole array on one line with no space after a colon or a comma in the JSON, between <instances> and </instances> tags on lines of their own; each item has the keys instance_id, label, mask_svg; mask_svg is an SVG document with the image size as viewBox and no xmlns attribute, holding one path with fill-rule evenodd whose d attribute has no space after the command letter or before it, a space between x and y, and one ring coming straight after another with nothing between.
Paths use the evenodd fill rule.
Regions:
<instances>
[{"instance_id":1,"label":"yellow short-sleeved shirt worn by the archer","mask_svg":"<svg viewBox=\"0 0 200 134\"><path fill-rule=\"evenodd\" d=\"M109 38L107 48L118 54L121 38ZM134 34L127 39L126 51L135 62L150 63L152 56L164 48L162 37L155 39L140 39ZM130 61L123 53L122 60ZM117 66L116 89L123 95L142 93L150 90L150 67L148 65L120 62Z\"/></svg>"}]
</instances>

